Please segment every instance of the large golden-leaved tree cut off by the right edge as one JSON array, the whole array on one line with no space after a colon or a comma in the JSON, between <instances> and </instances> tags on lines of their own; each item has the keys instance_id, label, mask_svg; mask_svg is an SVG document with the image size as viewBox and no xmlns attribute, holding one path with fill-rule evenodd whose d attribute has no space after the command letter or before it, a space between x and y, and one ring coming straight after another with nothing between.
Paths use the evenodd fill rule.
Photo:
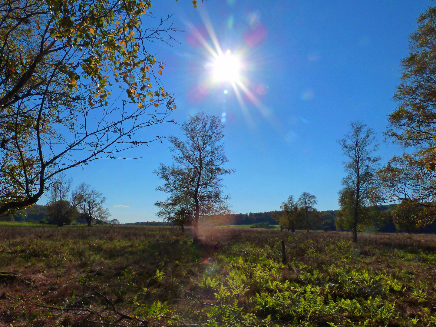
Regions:
<instances>
[{"instance_id":1,"label":"large golden-leaved tree cut off by the right edge","mask_svg":"<svg viewBox=\"0 0 436 327\"><path fill-rule=\"evenodd\" d=\"M398 109L389 114L386 136L404 148L378 172L381 198L432 202L436 196L436 8L418 18L410 35L410 53L402 61L401 84L394 95Z\"/></svg>"}]
</instances>

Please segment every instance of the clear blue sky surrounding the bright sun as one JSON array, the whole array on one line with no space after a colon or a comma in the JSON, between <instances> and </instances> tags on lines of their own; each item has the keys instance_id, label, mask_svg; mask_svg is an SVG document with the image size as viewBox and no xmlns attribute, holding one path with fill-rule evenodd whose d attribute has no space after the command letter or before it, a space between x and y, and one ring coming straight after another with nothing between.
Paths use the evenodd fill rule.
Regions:
<instances>
[{"instance_id":1,"label":"clear blue sky surrounding the bright sun","mask_svg":"<svg viewBox=\"0 0 436 327\"><path fill-rule=\"evenodd\" d=\"M162 81L177 104L171 118L182 123L198 111L225 118L228 167L236 170L225 185L235 213L275 210L303 191L317 196L318 210L337 209L344 158L336 139L351 120L375 129L383 162L402 152L382 142L382 133L395 108L392 96L400 60L409 52L408 35L428 5L424 0L199 0L194 9L186 0L153 1L155 18L147 24L174 13L174 25L186 31L173 34L172 47L150 44L167 63ZM240 60L242 103L230 83L212 76L211 54L198 39L201 35L214 48L211 30L222 50ZM142 133L144 139L180 136L174 124ZM112 218L157 220L153 203L166 194L156 191L161 181L153 170L160 162L171 163L168 146L167 140L152 143L130 153L141 159L95 161L68 176L101 191Z\"/></svg>"}]
</instances>

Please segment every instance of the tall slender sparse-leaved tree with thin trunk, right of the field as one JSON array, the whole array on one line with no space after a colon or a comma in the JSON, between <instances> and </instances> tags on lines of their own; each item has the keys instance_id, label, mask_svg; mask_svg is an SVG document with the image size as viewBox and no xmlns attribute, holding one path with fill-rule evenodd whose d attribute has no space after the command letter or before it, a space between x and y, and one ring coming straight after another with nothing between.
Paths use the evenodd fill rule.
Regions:
<instances>
[{"instance_id":1,"label":"tall slender sparse-leaved tree with thin trunk, right of the field","mask_svg":"<svg viewBox=\"0 0 436 327\"><path fill-rule=\"evenodd\" d=\"M359 121L351 122L350 127L351 133L337 140L342 154L347 157L344 161L347 176L339 191L341 218L338 216L338 223L344 221L353 233L353 242L357 242L358 228L368 222L368 207L374 201L371 191L376 183L375 171L380 157L374 155L378 148L375 131Z\"/></svg>"}]
</instances>

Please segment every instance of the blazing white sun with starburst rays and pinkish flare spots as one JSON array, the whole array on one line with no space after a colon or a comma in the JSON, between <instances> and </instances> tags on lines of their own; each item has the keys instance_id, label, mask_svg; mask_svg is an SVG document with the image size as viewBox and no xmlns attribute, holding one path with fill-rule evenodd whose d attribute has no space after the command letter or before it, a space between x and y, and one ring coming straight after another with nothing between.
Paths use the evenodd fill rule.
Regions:
<instances>
[{"instance_id":1,"label":"blazing white sun with starburst rays and pinkish flare spots","mask_svg":"<svg viewBox=\"0 0 436 327\"><path fill-rule=\"evenodd\" d=\"M233 2L234 0L227 1ZM201 75L204 79L201 78L201 81L195 83L195 86L189 89L188 99L191 99L191 102L194 102L194 100L198 102L204 101L207 95L213 93L212 90L214 88L224 87L225 89L221 91L224 92L224 100L230 98L229 95L235 96L241 107L241 112L250 126L254 127L255 124L245 99L250 104L253 104L262 116L269 120L272 126L280 129L283 135L285 135L286 132L283 130L281 122L276 119L272 110L258 98L267 94L268 86L260 83L255 84L250 78L250 72L254 72L256 69L255 64L252 60L250 61L248 55L252 53L251 49L261 44L268 35L266 26L259 21L259 12L254 14L249 13L249 17L247 17L248 30L241 35L245 44L235 44L232 40L226 41L227 44L231 44L233 51L225 51L221 48L221 44L215 34L215 29L204 7L200 8L198 12L208 35L204 33L202 28L198 29L194 24L186 22L190 30L187 40L195 48L201 44L200 48L206 55L207 61L204 62L201 68ZM229 30L234 29L233 19L233 17L229 17L227 21ZM231 86L231 89L229 86ZM230 92L231 90L233 92ZM224 115L221 116L223 122L227 118Z\"/></svg>"}]
</instances>

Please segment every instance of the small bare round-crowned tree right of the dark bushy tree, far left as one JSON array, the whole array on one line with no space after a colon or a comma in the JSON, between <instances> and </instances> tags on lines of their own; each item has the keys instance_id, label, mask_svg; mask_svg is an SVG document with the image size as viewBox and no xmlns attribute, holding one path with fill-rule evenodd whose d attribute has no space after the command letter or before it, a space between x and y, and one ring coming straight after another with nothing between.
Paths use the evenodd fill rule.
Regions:
<instances>
[{"instance_id":1,"label":"small bare round-crowned tree right of the dark bushy tree, far left","mask_svg":"<svg viewBox=\"0 0 436 327\"><path fill-rule=\"evenodd\" d=\"M103 203L106 198L102 193L99 193L91 185L82 183L72 194L72 198L77 203L77 209L80 217L86 220L88 226L91 226L93 221L106 222L110 216L109 210L103 208Z\"/></svg>"}]
</instances>

